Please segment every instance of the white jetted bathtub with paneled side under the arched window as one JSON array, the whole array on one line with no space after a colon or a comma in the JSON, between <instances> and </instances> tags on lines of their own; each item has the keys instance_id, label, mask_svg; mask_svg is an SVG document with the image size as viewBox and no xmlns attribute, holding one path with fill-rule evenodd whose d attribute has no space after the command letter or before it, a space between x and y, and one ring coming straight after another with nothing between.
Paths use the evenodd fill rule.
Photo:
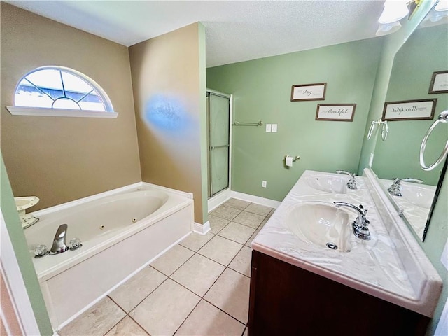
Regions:
<instances>
[{"instance_id":1,"label":"white jetted bathtub with paneled side under the arched window","mask_svg":"<svg viewBox=\"0 0 448 336\"><path fill-rule=\"evenodd\" d=\"M149 183L86 197L33 213L25 229L30 254L51 248L59 225L75 251L33 258L52 327L62 328L193 230L193 195Z\"/></svg>"}]
</instances>

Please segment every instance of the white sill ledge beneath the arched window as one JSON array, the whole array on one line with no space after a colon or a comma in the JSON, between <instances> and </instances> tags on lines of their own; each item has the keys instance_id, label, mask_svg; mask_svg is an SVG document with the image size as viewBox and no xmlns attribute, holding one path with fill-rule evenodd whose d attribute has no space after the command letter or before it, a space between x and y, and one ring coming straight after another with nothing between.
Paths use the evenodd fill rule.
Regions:
<instances>
[{"instance_id":1,"label":"white sill ledge beneath the arched window","mask_svg":"<svg viewBox=\"0 0 448 336\"><path fill-rule=\"evenodd\" d=\"M6 106L13 116L117 118L117 112L70 109L45 109L43 107Z\"/></svg>"}]
</instances>

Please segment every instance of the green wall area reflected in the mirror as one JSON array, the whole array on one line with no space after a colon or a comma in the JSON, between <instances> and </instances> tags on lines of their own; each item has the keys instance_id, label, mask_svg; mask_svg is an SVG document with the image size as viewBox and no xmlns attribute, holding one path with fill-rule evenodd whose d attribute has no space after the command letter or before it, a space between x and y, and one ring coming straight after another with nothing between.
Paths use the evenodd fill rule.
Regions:
<instances>
[{"instance_id":1,"label":"green wall area reflected in the mirror","mask_svg":"<svg viewBox=\"0 0 448 336\"><path fill-rule=\"evenodd\" d=\"M388 121L388 139L378 138L372 166L383 179L413 177L437 185L440 169L430 172L421 169L419 152L426 131L439 113L448 108L448 94L428 94L433 72L448 69L447 36L448 25L416 29L395 55L386 102L437 99L437 105L433 120ZM446 139L448 127L435 128L426 146L427 163L437 160Z\"/></svg>"}]
</instances>

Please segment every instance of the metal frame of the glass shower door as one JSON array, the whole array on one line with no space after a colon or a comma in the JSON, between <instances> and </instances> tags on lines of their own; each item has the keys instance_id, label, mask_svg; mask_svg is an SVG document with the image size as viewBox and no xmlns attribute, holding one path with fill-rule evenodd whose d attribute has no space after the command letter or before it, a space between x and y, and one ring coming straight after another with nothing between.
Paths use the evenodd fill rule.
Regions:
<instances>
[{"instance_id":1,"label":"metal frame of the glass shower door","mask_svg":"<svg viewBox=\"0 0 448 336\"><path fill-rule=\"evenodd\" d=\"M209 210L211 209L211 205L214 203L214 200L217 202L219 199L223 198L229 198L230 197L230 190L231 190L231 184L232 184L232 116L233 116L233 95L232 94L226 94L223 92L219 92L216 90L207 89L207 199L209 200ZM228 167L228 187L218 191L215 195L211 195L211 162L210 162L210 99L209 94L214 94L216 96L224 97L229 99L229 167ZM227 195L229 194L229 195ZM212 206L213 207L213 206Z\"/></svg>"}]
</instances>

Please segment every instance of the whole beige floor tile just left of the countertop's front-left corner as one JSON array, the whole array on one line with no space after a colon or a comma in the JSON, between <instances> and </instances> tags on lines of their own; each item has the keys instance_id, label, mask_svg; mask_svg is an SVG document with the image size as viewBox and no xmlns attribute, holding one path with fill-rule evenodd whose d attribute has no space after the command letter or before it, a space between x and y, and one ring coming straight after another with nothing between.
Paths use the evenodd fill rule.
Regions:
<instances>
[{"instance_id":1,"label":"whole beige floor tile just left of the countertop's front-left corner","mask_svg":"<svg viewBox=\"0 0 448 336\"><path fill-rule=\"evenodd\" d=\"M197 253L204 255L211 260L227 266L241 249L241 244L235 243L229 239L220 236L213 237Z\"/></svg>"}]
</instances>

